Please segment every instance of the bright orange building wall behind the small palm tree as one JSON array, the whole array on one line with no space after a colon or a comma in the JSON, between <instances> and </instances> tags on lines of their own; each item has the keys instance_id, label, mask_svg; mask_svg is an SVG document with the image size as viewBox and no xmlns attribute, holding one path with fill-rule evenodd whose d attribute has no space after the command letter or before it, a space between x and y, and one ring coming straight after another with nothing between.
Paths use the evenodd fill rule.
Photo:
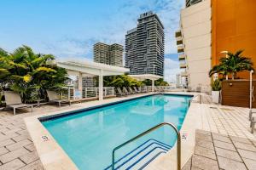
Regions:
<instances>
[{"instance_id":1,"label":"bright orange building wall behind the small palm tree","mask_svg":"<svg viewBox=\"0 0 256 170\"><path fill-rule=\"evenodd\" d=\"M212 65L224 54L244 49L256 71L256 0L212 0ZM254 74L254 78L256 78ZM248 78L248 72L238 74Z\"/></svg>"}]
</instances>

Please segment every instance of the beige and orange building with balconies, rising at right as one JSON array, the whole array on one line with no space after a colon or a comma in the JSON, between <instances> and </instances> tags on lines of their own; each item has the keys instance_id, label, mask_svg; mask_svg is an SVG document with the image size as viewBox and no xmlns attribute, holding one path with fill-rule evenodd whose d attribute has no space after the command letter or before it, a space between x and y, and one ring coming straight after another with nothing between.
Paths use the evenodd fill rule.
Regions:
<instances>
[{"instance_id":1,"label":"beige and orange building with balconies, rising at right","mask_svg":"<svg viewBox=\"0 0 256 170\"><path fill-rule=\"evenodd\" d=\"M189 88L211 90L208 73L225 56L221 52L244 49L243 55L256 62L255 8L254 0L186 0L175 37L180 75ZM238 74L248 76L245 71Z\"/></svg>"}]
</instances>

